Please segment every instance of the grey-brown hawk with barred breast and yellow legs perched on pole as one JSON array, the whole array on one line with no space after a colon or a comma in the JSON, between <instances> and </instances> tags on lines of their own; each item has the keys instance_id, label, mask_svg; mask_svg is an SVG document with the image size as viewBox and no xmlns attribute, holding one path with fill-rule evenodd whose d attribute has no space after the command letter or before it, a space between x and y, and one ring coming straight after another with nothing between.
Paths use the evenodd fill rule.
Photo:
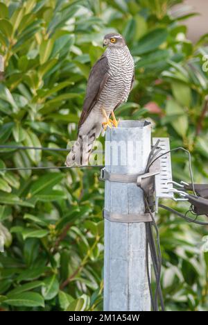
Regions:
<instances>
[{"instance_id":1,"label":"grey-brown hawk with barred breast and yellow legs perched on pole","mask_svg":"<svg viewBox=\"0 0 208 325\"><path fill-rule=\"evenodd\" d=\"M117 127L114 110L127 101L135 68L125 40L119 33L105 35L105 52L89 74L83 111L78 124L78 139L67 156L65 165L88 165L93 143L102 128ZM110 117L112 117L110 119Z\"/></svg>"}]
</instances>

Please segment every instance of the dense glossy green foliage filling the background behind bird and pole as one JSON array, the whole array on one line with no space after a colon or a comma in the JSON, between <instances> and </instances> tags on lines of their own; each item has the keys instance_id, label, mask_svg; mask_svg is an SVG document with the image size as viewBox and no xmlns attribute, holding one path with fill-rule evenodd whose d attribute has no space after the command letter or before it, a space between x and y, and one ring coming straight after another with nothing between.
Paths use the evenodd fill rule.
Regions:
<instances>
[{"instance_id":1,"label":"dense glossy green foliage filling the background behind bird and pole","mask_svg":"<svg viewBox=\"0 0 208 325\"><path fill-rule=\"evenodd\" d=\"M65 148L103 35L119 31L136 81L122 119L151 119L155 136L189 149L196 182L207 182L207 72L203 37L186 38L180 1L19 0L0 3L0 143ZM103 138L101 139L103 142ZM0 149L0 168L64 165L62 151ZM189 181L187 156L173 153L175 180ZM0 171L0 301L3 310L102 310L103 184L96 169ZM168 201L175 207L175 203ZM182 212L185 203L177 204ZM167 310L207 310L206 228L160 211ZM204 246L202 246L204 245ZM204 249L202 249L204 247ZM206 246L207 247L207 246Z\"/></svg>"}]
</instances>

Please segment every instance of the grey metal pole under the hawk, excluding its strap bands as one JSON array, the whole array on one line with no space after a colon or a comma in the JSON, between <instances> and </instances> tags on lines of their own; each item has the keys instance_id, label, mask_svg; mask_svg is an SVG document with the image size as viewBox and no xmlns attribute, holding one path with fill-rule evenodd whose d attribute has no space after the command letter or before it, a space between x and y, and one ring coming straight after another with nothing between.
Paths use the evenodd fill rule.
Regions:
<instances>
[{"instance_id":1,"label":"grey metal pole under the hawk, excluding its strap bands","mask_svg":"<svg viewBox=\"0 0 208 325\"><path fill-rule=\"evenodd\" d=\"M122 121L118 128L107 128L107 172L144 172L150 138L150 122L146 121ZM142 190L135 183L105 181L105 210L122 215L144 213ZM150 310L144 222L121 223L105 219L104 310Z\"/></svg>"}]
</instances>

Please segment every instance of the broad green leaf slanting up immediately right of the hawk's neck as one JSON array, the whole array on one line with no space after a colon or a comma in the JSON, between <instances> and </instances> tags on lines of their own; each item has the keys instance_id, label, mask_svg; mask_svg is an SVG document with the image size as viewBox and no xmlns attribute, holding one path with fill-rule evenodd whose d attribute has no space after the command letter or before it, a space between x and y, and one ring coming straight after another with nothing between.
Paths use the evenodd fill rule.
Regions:
<instances>
[{"instance_id":1,"label":"broad green leaf slanting up immediately right of the hawk's neck","mask_svg":"<svg viewBox=\"0 0 208 325\"><path fill-rule=\"evenodd\" d=\"M165 28L157 28L144 35L135 47L132 49L134 56L140 56L141 54L154 51L166 41L168 32Z\"/></svg>"}]
</instances>

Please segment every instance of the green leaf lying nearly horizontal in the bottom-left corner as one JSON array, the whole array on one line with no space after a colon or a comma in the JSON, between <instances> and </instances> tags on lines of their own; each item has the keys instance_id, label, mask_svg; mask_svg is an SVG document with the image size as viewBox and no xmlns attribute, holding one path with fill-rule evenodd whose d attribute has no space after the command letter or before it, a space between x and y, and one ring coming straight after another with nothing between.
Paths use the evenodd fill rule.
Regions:
<instances>
[{"instance_id":1,"label":"green leaf lying nearly horizontal in the bottom-left corner","mask_svg":"<svg viewBox=\"0 0 208 325\"><path fill-rule=\"evenodd\" d=\"M44 307L44 299L36 292L24 292L12 294L10 298L3 301L10 306Z\"/></svg>"}]
</instances>

